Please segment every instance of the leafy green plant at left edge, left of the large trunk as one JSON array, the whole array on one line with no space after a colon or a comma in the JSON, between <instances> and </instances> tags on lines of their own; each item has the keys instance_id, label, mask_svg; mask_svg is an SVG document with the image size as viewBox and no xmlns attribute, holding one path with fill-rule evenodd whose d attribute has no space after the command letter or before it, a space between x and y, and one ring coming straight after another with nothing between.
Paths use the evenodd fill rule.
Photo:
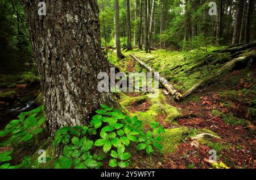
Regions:
<instances>
[{"instance_id":1,"label":"leafy green plant at left edge, left of the large trunk","mask_svg":"<svg viewBox=\"0 0 256 180\"><path fill-rule=\"evenodd\" d=\"M1 145L9 143L14 145L26 142L41 133L43 131L43 124L46 121L44 107L40 106L34 110L22 112L18 118L12 120L3 131L0 131L0 137L10 136Z\"/></svg>"}]
</instances>

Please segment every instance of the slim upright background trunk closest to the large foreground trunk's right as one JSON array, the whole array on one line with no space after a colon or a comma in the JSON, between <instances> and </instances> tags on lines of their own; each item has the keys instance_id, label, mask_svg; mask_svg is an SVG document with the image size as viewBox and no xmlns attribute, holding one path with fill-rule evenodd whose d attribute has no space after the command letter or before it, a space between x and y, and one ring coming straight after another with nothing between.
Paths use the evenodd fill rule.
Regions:
<instances>
[{"instance_id":1,"label":"slim upright background trunk closest to the large foreground trunk's right","mask_svg":"<svg viewBox=\"0 0 256 180\"><path fill-rule=\"evenodd\" d=\"M117 57L122 58L120 30L119 30L119 1L115 0L115 45L117 46Z\"/></svg>"}]
</instances>

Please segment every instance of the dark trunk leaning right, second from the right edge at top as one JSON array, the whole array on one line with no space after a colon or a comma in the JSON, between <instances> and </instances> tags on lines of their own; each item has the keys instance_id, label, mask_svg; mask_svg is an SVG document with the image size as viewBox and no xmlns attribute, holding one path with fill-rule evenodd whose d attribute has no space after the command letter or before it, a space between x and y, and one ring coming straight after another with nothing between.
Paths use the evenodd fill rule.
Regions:
<instances>
[{"instance_id":1,"label":"dark trunk leaning right, second from the right edge at top","mask_svg":"<svg viewBox=\"0 0 256 180\"><path fill-rule=\"evenodd\" d=\"M237 0L237 14L236 14L236 22L234 26L232 45L236 45L239 43L242 16L243 16L243 0Z\"/></svg>"}]
</instances>

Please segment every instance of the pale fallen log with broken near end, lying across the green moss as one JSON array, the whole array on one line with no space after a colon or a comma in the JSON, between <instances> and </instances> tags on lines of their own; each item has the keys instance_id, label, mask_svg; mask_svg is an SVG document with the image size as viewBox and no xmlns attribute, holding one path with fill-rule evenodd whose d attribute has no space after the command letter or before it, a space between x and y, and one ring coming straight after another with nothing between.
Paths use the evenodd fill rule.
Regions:
<instances>
[{"instance_id":1,"label":"pale fallen log with broken near end, lying across the green moss","mask_svg":"<svg viewBox=\"0 0 256 180\"><path fill-rule=\"evenodd\" d=\"M172 86L171 83L167 81L166 78L160 76L158 72L155 72L154 69L152 69L150 66L145 64L143 61L139 60L139 58L137 58L136 56L131 55L131 57L133 57L135 61L139 62L139 64L144 66L144 68L146 68L149 72L152 72L155 75L155 77L158 79L158 81L162 83L162 85L168 90L168 92L171 93L171 95L174 95L176 101L180 101L183 98L180 91L176 90L175 87Z\"/></svg>"}]
</instances>

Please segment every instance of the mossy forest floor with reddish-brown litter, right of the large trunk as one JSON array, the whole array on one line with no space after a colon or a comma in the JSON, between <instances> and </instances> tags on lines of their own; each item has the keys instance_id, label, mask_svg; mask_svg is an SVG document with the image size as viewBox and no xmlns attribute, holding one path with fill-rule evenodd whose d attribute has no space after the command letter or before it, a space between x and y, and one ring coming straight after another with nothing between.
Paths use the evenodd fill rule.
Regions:
<instances>
[{"instance_id":1,"label":"mossy forest floor with reddish-brown litter, right of the large trunk","mask_svg":"<svg viewBox=\"0 0 256 180\"><path fill-rule=\"evenodd\" d=\"M175 61L170 58L171 55L182 56L181 53L167 53L162 50L152 52L151 55L135 50L125 53L125 60L113 61L110 56L110 61L125 72L140 72L142 67L130 57L131 54L150 62L150 66L160 73L162 66L168 70L175 69L174 66L179 65L177 62L169 62ZM161 65L161 62L158 62L160 60L166 61L166 65ZM189 66L191 65L193 66L193 64ZM195 73L191 73L189 80L185 77L188 74L179 73L174 73L175 78L168 80L178 88L182 86L183 89L188 89L205 76L204 68L207 69L206 66L195 68L194 72L199 75L196 77ZM255 101L256 95L255 64L251 69L248 71L245 67L236 67L217 79L217 82L203 86L181 102L175 102L171 95L164 95L166 90L162 89L163 93L160 92L160 96L164 96L163 99L167 104L161 102L165 107L163 111L156 110L156 113L151 111L155 102L151 99L141 101L144 94L125 93L125 98L121 98L120 102L125 102L126 109L132 115L145 120L153 116L151 120L159 122L166 129L166 135L163 135L163 152L150 157L140 154L134 158L133 168L256 168L255 111L253 111L255 104L253 107L246 104ZM212 68L212 72L215 70ZM168 75L172 76L171 73L166 72L162 71L163 76L167 78ZM127 100L129 98L130 103ZM170 113L165 108L171 108L173 112ZM170 118L170 114L176 112L180 115ZM201 133L210 133L220 138L210 136L197 138L196 135ZM209 161L210 149L217 152L217 164Z\"/></svg>"}]
</instances>

